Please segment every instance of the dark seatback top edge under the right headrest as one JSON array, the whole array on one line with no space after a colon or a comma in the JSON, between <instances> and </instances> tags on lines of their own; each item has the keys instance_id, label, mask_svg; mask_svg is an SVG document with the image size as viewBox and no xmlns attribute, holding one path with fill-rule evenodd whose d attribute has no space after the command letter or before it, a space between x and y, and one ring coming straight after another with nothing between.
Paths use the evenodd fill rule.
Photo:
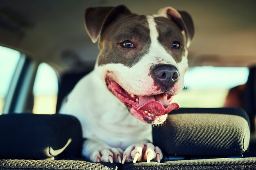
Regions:
<instances>
[{"instance_id":1,"label":"dark seatback top edge under the right headrest","mask_svg":"<svg viewBox=\"0 0 256 170\"><path fill-rule=\"evenodd\" d=\"M146 162L125 163L123 170L239 170L256 169L256 157L251 158L218 158L166 161L164 163Z\"/></svg>"}]
</instances>

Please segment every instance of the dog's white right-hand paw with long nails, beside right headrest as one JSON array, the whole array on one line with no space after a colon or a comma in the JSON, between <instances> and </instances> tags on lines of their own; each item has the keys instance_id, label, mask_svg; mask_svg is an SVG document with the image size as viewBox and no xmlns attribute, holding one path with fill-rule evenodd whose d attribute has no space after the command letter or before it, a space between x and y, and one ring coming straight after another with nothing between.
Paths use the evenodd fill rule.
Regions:
<instances>
[{"instance_id":1,"label":"dog's white right-hand paw with long nails, beside right headrest","mask_svg":"<svg viewBox=\"0 0 256 170\"><path fill-rule=\"evenodd\" d=\"M162 158L163 154L159 147L150 143L139 143L130 145L126 148L123 154L122 163L131 161L133 163L136 163L137 161L147 161L149 163L151 160L160 162Z\"/></svg>"}]
</instances>

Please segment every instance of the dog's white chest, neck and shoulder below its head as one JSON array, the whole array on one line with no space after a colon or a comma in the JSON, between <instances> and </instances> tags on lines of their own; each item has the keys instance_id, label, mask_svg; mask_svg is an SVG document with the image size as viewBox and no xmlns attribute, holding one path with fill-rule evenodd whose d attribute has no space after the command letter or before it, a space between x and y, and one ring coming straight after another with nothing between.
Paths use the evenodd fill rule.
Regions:
<instances>
[{"instance_id":1,"label":"dog's white chest, neck and shoulder below its head","mask_svg":"<svg viewBox=\"0 0 256 170\"><path fill-rule=\"evenodd\" d=\"M94 72L76 85L60 113L72 114L80 120L83 137L100 139L113 147L125 149L144 139L152 141L151 125L134 118Z\"/></svg>"}]
</instances>

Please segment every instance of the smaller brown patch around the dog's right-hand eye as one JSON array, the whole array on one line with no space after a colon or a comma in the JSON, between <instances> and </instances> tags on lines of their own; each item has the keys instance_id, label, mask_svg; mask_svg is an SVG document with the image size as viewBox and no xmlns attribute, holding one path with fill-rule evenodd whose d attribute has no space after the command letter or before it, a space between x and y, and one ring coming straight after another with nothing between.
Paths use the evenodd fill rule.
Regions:
<instances>
[{"instance_id":1,"label":"smaller brown patch around the dog's right-hand eye","mask_svg":"<svg viewBox=\"0 0 256 170\"><path fill-rule=\"evenodd\" d=\"M173 59L177 63L180 63L185 52L184 37L180 28L174 22L165 17L155 17L154 20L157 24L159 43L164 47L166 52L173 56ZM173 41L180 42L180 48L172 48Z\"/></svg>"}]
</instances>

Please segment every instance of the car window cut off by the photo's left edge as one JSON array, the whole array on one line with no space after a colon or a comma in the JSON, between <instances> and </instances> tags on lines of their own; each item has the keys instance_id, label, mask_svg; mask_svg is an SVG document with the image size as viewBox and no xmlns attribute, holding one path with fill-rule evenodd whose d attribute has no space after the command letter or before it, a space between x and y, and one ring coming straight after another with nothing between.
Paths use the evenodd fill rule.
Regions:
<instances>
[{"instance_id":1,"label":"car window cut off by the photo's left edge","mask_svg":"<svg viewBox=\"0 0 256 170\"><path fill-rule=\"evenodd\" d=\"M0 46L0 115L19 59L20 52Z\"/></svg>"}]
</instances>

